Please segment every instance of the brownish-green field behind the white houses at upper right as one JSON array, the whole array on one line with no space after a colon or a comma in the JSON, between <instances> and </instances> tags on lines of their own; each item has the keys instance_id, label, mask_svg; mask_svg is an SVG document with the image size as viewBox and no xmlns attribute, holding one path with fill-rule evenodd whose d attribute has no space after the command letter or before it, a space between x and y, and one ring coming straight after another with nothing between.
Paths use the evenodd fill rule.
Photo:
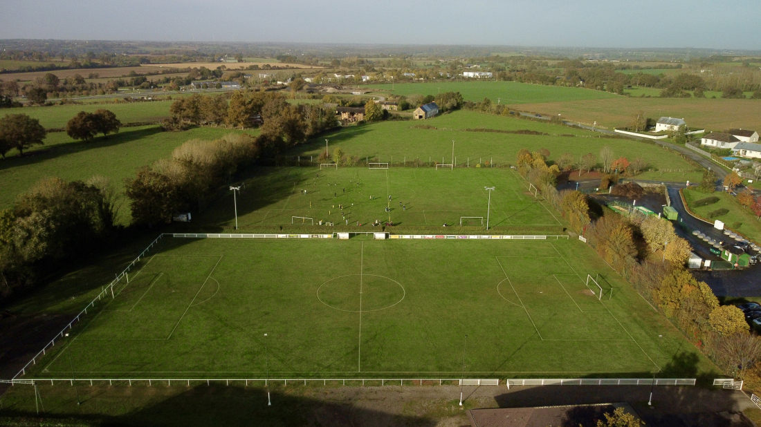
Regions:
<instances>
[{"instance_id":1,"label":"brownish-green field behind the white houses at upper right","mask_svg":"<svg viewBox=\"0 0 761 427\"><path fill-rule=\"evenodd\" d=\"M629 90L627 90L629 91ZM516 106L522 110L548 115L562 114L565 119L582 124L622 127L632 122L636 112L657 119L663 115L684 118L690 128L721 131L728 128L761 128L761 100L724 100L721 93L706 93L711 98L640 98L618 97L607 100L572 100L566 102L530 103ZM647 94L647 93L645 93Z\"/></svg>"}]
</instances>

